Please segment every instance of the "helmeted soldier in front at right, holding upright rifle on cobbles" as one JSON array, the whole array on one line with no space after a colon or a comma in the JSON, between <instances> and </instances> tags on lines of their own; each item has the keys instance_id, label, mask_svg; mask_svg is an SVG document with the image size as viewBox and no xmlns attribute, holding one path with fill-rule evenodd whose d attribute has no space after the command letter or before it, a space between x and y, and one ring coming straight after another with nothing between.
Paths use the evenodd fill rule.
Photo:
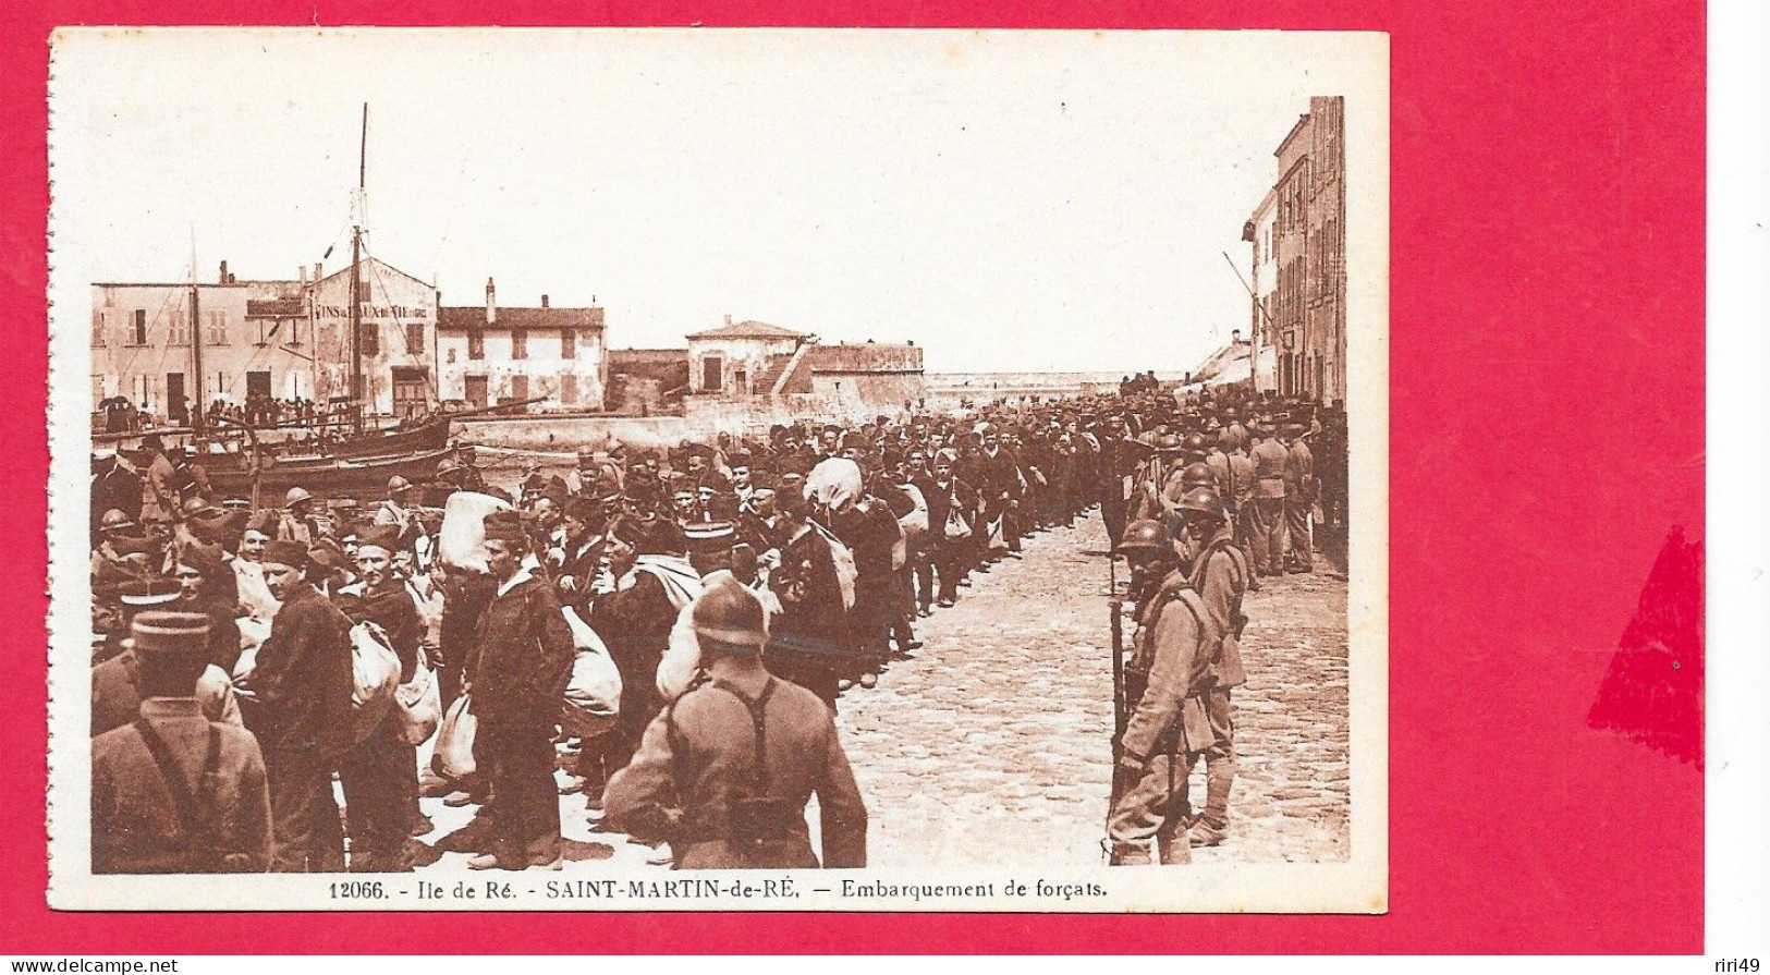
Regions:
<instances>
[{"instance_id":1,"label":"helmeted soldier in front at right, holding upright rifle on cobbles","mask_svg":"<svg viewBox=\"0 0 1770 975\"><path fill-rule=\"evenodd\" d=\"M1161 522L1126 526L1119 552L1131 563L1143 598L1126 674L1135 706L1113 770L1108 851L1113 865L1150 864L1158 855L1161 864L1189 864L1186 777L1211 745L1200 697L1211 667L1205 610ZM1138 683L1143 690L1135 695Z\"/></svg>"}]
</instances>

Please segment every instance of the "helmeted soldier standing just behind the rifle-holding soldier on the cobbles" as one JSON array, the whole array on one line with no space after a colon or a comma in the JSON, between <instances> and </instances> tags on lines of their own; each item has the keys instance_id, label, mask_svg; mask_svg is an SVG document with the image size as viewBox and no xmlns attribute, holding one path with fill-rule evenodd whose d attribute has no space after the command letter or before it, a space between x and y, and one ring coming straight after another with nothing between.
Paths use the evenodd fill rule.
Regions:
<instances>
[{"instance_id":1,"label":"helmeted soldier standing just behind the rifle-holding soldier on the cobbles","mask_svg":"<svg viewBox=\"0 0 1770 975\"><path fill-rule=\"evenodd\" d=\"M1205 807L1193 821L1193 842L1223 842L1228 825L1228 793L1235 782L1235 740L1230 690L1246 683L1241 664L1241 632L1248 623L1241 603L1253 572L1235 545L1223 501L1211 488L1195 488L1181 501L1181 536L1175 538L1188 586L1198 593L1205 616L1205 648L1211 653L1204 688L1211 743L1205 759Z\"/></svg>"}]
</instances>

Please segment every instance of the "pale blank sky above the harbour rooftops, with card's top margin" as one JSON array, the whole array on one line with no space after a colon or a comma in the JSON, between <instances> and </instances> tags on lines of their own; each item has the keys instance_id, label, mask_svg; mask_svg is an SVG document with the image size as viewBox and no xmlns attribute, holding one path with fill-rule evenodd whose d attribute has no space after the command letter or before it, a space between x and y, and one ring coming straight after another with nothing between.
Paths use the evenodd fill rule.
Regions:
<instances>
[{"instance_id":1,"label":"pale blank sky above the harbour rooftops, with card's top margin","mask_svg":"<svg viewBox=\"0 0 1770 975\"><path fill-rule=\"evenodd\" d=\"M57 41L55 287L349 265L444 304L726 313L915 340L929 372L1193 368L1246 327L1241 225L1377 35L147 30ZM1246 274L1246 269L1244 269ZM81 299L83 301L83 299ZM78 315L85 327L85 315Z\"/></svg>"}]
</instances>

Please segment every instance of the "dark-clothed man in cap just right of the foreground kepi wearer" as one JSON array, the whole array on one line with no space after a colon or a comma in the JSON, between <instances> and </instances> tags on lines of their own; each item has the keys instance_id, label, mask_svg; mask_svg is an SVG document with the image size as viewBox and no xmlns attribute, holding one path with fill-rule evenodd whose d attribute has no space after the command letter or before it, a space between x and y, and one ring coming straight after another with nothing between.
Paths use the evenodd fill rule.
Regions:
<instances>
[{"instance_id":1,"label":"dark-clothed man in cap just right of the foreground kepi wearer","mask_svg":"<svg viewBox=\"0 0 1770 975\"><path fill-rule=\"evenodd\" d=\"M281 602L246 678L262 704L274 825L273 871L343 871L343 830L331 777L350 749L350 619L308 582L308 549L264 547L264 579Z\"/></svg>"}]
</instances>

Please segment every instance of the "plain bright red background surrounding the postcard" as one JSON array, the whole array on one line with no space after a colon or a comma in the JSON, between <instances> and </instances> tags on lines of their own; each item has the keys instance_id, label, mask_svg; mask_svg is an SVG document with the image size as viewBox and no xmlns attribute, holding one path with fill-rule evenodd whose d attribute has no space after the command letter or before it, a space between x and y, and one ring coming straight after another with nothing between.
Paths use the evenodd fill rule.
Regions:
<instances>
[{"instance_id":1,"label":"plain bright red background surrounding the postcard","mask_svg":"<svg viewBox=\"0 0 1770 975\"><path fill-rule=\"evenodd\" d=\"M568 913L44 908L48 32L446 25L478 4L0 11L0 943L12 952L573 950ZM1080 7L1080 5L1076 5ZM1703 526L1703 5L1237 0L510 4L503 25L1384 30L1393 55L1386 917L605 915L614 950L1701 952L1703 779L1586 727L1666 531ZM1331 7L1331 9L1328 9ZM455 11L453 14L450 11ZM588 21L584 18L595 18ZM1177 874L1179 879L1179 874ZM692 929L692 936L685 931Z\"/></svg>"}]
</instances>

